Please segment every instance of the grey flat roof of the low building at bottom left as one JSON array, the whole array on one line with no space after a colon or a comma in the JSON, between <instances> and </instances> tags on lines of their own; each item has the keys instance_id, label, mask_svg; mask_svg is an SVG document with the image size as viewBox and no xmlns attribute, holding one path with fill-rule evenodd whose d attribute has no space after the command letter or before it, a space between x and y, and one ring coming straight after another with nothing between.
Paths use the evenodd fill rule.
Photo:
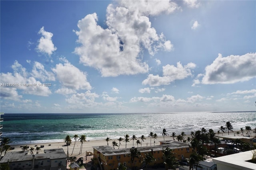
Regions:
<instances>
[{"instance_id":1,"label":"grey flat roof of the low building at bottom left","mask_svg":"<svg viewBox=\"0 0 256 170\"><path fill-rule=\"evenodd\" d=\"M9 162L33 160L33 155L28 152L28 150L7 152L6 155L4 155L4 157L2 158L1 163L8 162L8 160ZM44 150L44 153L35 154L35 160L60 158L67 158L66 153L62 148L46 149Z\"/></svg>"}]
</instances>

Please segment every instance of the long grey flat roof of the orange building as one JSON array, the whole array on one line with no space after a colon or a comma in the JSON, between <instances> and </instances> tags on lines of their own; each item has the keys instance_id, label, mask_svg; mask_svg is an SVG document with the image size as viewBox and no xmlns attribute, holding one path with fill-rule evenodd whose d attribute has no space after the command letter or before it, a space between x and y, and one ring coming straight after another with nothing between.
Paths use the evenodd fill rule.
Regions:
<instances>
[{"instance_id":1,"label":"long grey flat roof of the orange building","mask_svg":"<svg viewBox=\"0 0 256 170\"><path fill-rule=\"evenodd\" d=\"M159 150L166 149L167 147L170 149L180 149L180 148L188 148L189 145L186 143L183 143L183 142L169 141L168 144L165 144L165 145L155 145L155 146L148 146L148 147L134 147L134 148L136 148L138 150L138 152L150 152L151 149L153 149L153 151L159 151ZM128 154L128 153L130 153L130 149L131 149L131 148L113 149L112 147L110 147L108 145L95 146L92 148L98 150L99 152L101 152L102 154L104 154L106 156Z\"/></svg>"}]
</instances>

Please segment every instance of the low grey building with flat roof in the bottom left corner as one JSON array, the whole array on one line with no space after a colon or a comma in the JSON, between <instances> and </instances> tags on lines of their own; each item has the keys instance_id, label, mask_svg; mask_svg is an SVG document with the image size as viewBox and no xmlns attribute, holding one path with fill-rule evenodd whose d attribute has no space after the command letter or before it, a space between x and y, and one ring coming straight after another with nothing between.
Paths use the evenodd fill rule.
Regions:
<instances>
[{"instance_id":1,"label":"low grey building with flat roof in the bottom left corner","mask_svg":"<svg viewBox=\"0 0 256 170\"><path fill-rule=\"evenodd\" d=\"M66 170L67 155L62 148L45 149L44 153L39 154L28 152L7 152L1 166L9 166L10 170Z\"/></svg>"}]
</instances>

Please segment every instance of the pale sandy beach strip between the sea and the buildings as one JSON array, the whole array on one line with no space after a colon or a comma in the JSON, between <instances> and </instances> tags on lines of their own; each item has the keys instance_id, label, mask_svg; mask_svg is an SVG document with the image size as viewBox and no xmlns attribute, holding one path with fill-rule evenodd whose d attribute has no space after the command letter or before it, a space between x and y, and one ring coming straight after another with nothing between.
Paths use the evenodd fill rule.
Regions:
<instances>
[{"instance_id":1,"label":"pale sandy beach strip between the sea and the buildings","mask_svg":"<svg viewBox=\"0 0 256 170\"><path fill-rule=\"evenodd\" d=\"M234 133L236 133L236 131L231 132L230 135L234 135ZM176 135L179 135L179 134L176 134ZM228 133L223 133L223 136L225 136L225 135L228 135ZM252 134L252 135L255 135L255 134ZM216 134L216 136L217 136L217 134ZM222 134L219 135L219 137L221 137L221 136L222 136ZM241 134L239 134L239 136L241 136ZM186 134L186 137L191 137L191 135L190 134ZM131 137L130 137L130 139L131 139ZM139 137L137 137L137 139L140 140ZM170 135L169 136L165 136L165 137L158 136L158 138L155 139L155 143L154 143L154 139L151 139L151 145L152 146L154 146L154 144L155 145L160 145L159 141L163 141L164 139L165 140L173 140L173 138ZM177 141L176 137L174 137L174 139ZM111 139L108 142L109 146L112 147L112 141L116 141L116 143L118 143L118 145L119 145L119 141L117 139ZM120 149L125 148L125 144L126 143L124 141L122 141L121 145L120 145ZM57 142L57 143L38 143L38 144L30 144L30 145L28 145L28 147L29 147L29 149L30 149L30 147L34 147L34 149L36 149L36 145L38 147L40 147L41 145L44 145L44 147L41 148L40 152L43 152L44 149L63 148L66 153L67 153L67 150L68 150L69 156L77 156L77 157L79 157L79 156L86 156L86 151L93 153L93 148L92 148L93 146L107 145L107 142L106 142L105 139L104 140L86 141L83 144L82 154L79 154L80 146L81 146L80 141L76 141L76 144L75 144L75 141L73 139L72 139L72 143L68 147L66 146L66 143L64 143L64 140L63 140L63 143L62 142ZM21 146L23 146L23 145L11 145L11 147L14 147L14 149L10 150L10 151L20 151L20 150L22 150ZM127 148L131 148L132 146L133 146L133 141L130 140L130 142L127 143ZM146 139L144 139L144 142L142 142L142 146L150 146L150 137L146 137ZM137 147L136 140L134 140L134 147ZM138 145L138 147L140 147L140 144ZM74 151L73 151L73 154L72 154L73 148L74 148ZM115 147L115 149L118 149L118 147ZM34 150L34 154L36 154L36 150Z\"/></svg>"}]
</instances>

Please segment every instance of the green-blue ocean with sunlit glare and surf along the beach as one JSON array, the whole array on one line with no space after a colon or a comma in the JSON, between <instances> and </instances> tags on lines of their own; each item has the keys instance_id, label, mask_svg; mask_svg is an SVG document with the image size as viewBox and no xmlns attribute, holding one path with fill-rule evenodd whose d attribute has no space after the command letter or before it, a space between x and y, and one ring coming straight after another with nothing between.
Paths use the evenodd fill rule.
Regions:
<instances>
[{"instance_id":1,"label":"green-blue ocean with sunlit glare and surf along the beach","mask_svg":"<svg viewBox=\"0 0 256 170\"><path fill-rule=\"evenodd\" d=\"M256 112L184 112L184 113L5 113L2 137L12 144L63 142L66 135L86 135L87 140L118 139L128 134L146 137L150 132L169 136L184 131L213 129L218 131L230 121L234 131L256 127ZM252 135L253 134L253 131ZM232 132L231 132L232 134Z\"/></svg>"}]
</instances>

